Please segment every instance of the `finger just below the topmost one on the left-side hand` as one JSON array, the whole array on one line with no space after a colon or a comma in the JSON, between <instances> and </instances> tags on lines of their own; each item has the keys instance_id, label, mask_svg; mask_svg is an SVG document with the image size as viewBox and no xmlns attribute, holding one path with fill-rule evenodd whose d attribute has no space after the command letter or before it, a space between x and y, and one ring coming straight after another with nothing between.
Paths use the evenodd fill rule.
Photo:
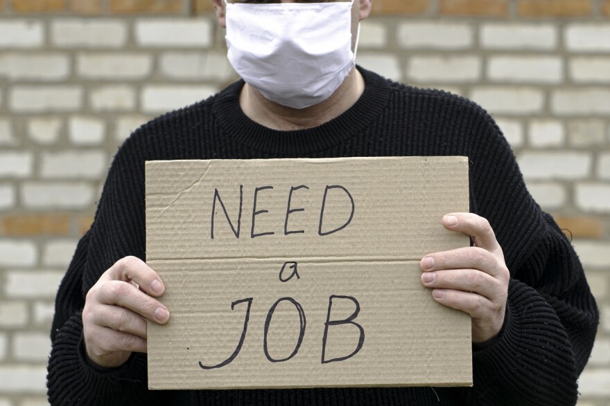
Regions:
<instances>
[{"instance_id":1,"label":"finger just below the topmost one on the left-side hand","mask_svg":"<svg viewBox=\"0 0 610 406\"><path fill-rule=\"evenodd\" d=\"M128 282L106 282L96 290L96 299L102 304L127 308L151 322L164 324L169 319L169 311L163 304Z\"/></svg>"}]
</instances>

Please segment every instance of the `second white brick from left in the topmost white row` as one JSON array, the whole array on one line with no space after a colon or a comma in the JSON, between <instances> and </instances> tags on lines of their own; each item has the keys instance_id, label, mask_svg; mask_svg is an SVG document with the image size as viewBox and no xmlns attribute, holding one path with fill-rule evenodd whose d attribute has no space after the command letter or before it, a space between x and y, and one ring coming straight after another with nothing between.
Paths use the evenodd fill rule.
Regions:
<instances>
[{"instance_id":1,"label":"second white brick from left in the topmost white row","mask_svg":"<svg viewBox=\"0 0 610 406\"><path fill-rule=\"evenodd\" d=\"M57 19L51 22L51 41L62 48L120 48L128 28L111 19Z\"/></svg>"}]
</instances>

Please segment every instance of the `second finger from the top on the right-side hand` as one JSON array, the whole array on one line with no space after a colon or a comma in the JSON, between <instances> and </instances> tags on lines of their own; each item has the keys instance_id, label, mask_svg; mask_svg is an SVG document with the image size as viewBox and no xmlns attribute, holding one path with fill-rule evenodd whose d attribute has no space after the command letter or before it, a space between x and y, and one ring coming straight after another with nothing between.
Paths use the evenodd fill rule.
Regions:
<instances>
[{"instance_id":1,"label":"second finger from the top on the right-side hand","mask_svg":"<svg viewBox=\"0 0 610 406\"><path fill-rule=\"evenodd\" d=\"M425 272L472 268L496 277L502 272L504 264L498 263L496 255L483 248L464 247L426 255L421 259L420 266Z\"/></svg>"}]
</instances>

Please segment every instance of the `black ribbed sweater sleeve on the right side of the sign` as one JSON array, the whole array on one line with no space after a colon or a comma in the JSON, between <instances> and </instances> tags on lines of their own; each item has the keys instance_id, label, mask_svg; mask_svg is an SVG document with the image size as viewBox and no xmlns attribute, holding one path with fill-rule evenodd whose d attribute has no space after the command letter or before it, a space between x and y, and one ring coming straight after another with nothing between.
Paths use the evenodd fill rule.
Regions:
<instances>
[{"instance_id":1,"label":"black ribbed sweater sleeve on the right side of the sign","mask_svg":"<svg viewBox=\"0 0 610 406\"><path fill-rule=\"evenodd\" d=\"M490 125L494 137L480 145L485 154L471 158L471 209L494 228L511 279L503 330L473 352L469 403L575 405L598 308L573 247L533 201L512 151Z\"/></svg>"}]
</instances>

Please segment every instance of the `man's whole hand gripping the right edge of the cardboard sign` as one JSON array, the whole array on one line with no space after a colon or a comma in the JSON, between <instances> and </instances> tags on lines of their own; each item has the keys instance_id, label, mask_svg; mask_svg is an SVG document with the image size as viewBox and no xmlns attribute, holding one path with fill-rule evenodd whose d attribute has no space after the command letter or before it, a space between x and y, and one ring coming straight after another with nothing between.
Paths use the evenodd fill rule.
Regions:
<instances>
[{"instance_id":1,"label":"man's whole hand gripping the right edge of the cardboard sign","mask_svg":"<svg viewBox=\"0 0 610 406\"><path fill-rule=\"evenodd\" d=\"M444 228L468 234L474 246L421 259L421 282L434 299L472 317L472 342L495 338L504 324L509 271L489 221L472 213L443 217Z\"/></svg>"}]
</instances>

